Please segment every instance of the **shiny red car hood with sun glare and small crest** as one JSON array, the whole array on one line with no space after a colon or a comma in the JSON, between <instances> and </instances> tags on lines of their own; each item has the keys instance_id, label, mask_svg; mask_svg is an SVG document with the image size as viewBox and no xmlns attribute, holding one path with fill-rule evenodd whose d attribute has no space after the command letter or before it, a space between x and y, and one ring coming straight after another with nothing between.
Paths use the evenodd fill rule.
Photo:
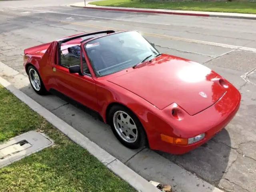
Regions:
<instances>
[{"instance_id":1,"label":"shiny red car hood with sun glare and small crest","mask_svg":"<svg viewBox=\"0 0 256 192\"><path fill-rule=\"evenodd\" d=\"M175 102L194 115L225 93L214 71L190 60L163 54L132 72L108 79L162 110Z\"/></svg>"}]
</instances>

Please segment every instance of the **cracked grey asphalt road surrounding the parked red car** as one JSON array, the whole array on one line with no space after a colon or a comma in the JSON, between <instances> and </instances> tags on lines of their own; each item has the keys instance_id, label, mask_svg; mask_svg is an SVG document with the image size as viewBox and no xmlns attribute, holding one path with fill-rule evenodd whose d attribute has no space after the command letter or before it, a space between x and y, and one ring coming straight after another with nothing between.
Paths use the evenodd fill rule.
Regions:
<instances>
[{"instance_id":1,"label":"cracked grey asphalt road surrounding the parked red car","mask_svg":"<svg viewBox=\"0 0 256 192\"><path fill-rule=\"evenodd\" d=\"M242 94L242 103L238 114L224 130L188 154L157 153L218 188L230 192L256 191L254 20L89 10L59 6L60 3L50 1L41 1L36 6L31 5L31 1L23 1L28 2L26 6L15 2L0 2L0 61L22 74L25 74L24 48L80 32L115 29L138 30L161 52L200 62L232 82ZM61 5L71 2L65 0ZM94 115L90 112L86 114L64 99L37 96L28 86L22 91L129 167L138 170L138 166L146 166L140 163L143 156L139 157L147 149L127 150L107 126L96 117L92 118ZM102 129L100 135L96 127ZM146 169L143 170L146 172ZM159 176L158 179L166 182L166 178Z\"/></svg>"}]
</instances>

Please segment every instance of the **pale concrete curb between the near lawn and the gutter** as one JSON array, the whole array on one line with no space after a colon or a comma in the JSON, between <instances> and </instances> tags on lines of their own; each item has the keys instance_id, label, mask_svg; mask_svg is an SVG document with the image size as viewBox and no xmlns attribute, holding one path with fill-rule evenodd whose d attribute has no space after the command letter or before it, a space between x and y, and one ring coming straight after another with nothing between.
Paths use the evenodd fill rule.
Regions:
<instances>
[{"instance_id":1,"label":"pale concrete curb between the near lawn and the gutter","mask_svg":"<svg viewBox=\"0 0 256 192\"><path fill-rule=\"evenodd\" d=\"M136 172L128 168L114 156L110 155L104 149L100 148L100 146L90 141L86 136L84 136L72 126L58 118L52 112L48 111L46 108L32 100L19 89L12 86L10 82L6 81L2 77L0 77L0 84L2 84L2 86L12 92L12 94L14 94L22 102L27 104L32 110L43 116L48 122L54 125L63 134L68 136L68 138L88 150L90 154L95 156L98 160L105 164L108 169L110 169L120 178L126 180L126 182L128 182L136 190L140 192L160 192L158 188L154 187L146 179L142 178L142 176L138 175Z\"/></svg>"}]
</instances>

